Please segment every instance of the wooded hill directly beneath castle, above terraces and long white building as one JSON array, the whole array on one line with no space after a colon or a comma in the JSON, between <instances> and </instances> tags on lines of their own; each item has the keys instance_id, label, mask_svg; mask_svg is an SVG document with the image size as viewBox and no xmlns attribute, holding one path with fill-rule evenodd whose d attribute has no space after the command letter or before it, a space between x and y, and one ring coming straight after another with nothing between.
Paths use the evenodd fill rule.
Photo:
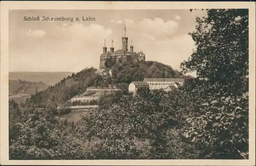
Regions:
<instances>
[{"instance_id":1,"label":"wooded hill directly beneath castle, above terraces and long white building","mask_svg":"<svg viewBox=\"0 0 256 166\"><path fill-rule=\"evenodd\" d=\"M31 96L26 106L36 105L38 107L57 107L74 96L86 92L87 87L113 87L116 86L127 91L132 81L142 81L145 77L185 77L168 65L155 61L141 63L116 63L112 67L110 75L95 75L95 68L86 68L71 76L65 77L50 86Z\"/></svg>"}]
</instances>

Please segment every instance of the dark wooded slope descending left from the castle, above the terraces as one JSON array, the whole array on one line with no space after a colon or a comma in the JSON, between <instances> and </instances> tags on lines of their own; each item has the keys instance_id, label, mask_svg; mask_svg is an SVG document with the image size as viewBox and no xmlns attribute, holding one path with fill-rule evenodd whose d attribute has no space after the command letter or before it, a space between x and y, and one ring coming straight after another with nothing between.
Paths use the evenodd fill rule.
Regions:
<instances>
[{"instance_id":1,"label":"dark wooded slope descending left from the castle, above the terraces","mask_svg":"<svg viewBox=\"0 0 256 166\"><path fill-rule=\"evenodd\" d=\"M26 100L25 106L57 107L77 94L83 93L87 87L93 86L95 71L94 68L86 68L72 74L69 79L63 78L55 86L31 95L31 98Z\"/></svg>"}]
</instances>

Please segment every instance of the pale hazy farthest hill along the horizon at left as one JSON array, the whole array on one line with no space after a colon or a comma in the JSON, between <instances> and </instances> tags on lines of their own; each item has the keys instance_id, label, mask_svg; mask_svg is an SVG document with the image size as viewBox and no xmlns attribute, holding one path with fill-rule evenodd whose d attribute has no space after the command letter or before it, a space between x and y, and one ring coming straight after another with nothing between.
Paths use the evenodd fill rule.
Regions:
<instances>
[{"instance_id":1,"label":"pale hazy farthest hill along the horizon at left","mask_svg":"<svg viewBox=\"0 0 256 166\"><path fill-rule=\"evenodd\" d=\"M9 79L32 82L42 81L47 85L55 85L62 78L71 74L72 72L9 72Z\"/></svg>"}]
</instances>

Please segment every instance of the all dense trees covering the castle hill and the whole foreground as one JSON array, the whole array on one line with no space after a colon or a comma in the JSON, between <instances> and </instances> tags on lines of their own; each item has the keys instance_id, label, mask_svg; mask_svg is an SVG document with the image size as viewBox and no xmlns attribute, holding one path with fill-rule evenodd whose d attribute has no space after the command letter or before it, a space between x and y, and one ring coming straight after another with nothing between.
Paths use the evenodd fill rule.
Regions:
<instances>
[{"instance_id":1,"label":"all dense trees covering the castle hill and the whole foreground","mask_svg":"<svg viewBox=\"0 0 256 166\"><path fill-rule=\"evenodd\" d=\"M189 35L197 50L181 69L197 77L177 91L105 94L79 122L56 120L60 113L51 104L87 87L179 76L146 62L114 65L111 79L85 69L24 108L10 101L10 159L248 159L248 10L211 9L196 22Z\"/></svg>"}]
</instances>

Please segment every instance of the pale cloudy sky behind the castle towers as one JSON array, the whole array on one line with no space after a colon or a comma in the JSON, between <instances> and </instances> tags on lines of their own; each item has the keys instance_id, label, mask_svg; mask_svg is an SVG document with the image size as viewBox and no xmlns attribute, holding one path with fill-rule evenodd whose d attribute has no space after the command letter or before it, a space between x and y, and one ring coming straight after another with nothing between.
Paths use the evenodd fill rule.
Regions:
<instances>
[{"instance_id":1,"label":"pale cloudy sky behind the castle towers","mask_svg":"<svg viewBox=\"0 0 256 166\"><path fill-rule=\"evenodd\" d=\"M39 17L25 21L24 17ZM71 21L43 21L45 17L73 17ZM179 70L195 43L188 35L195 31L196 17L204 11L189 10L10 10L9 71L71 71L99 68L106 40L133 40L134 51L145 53L146 61L158 61ZM92 17L95 21L83 21ZM76 18L80 20L76 21Z\"/></svg>"}]
</instances>

